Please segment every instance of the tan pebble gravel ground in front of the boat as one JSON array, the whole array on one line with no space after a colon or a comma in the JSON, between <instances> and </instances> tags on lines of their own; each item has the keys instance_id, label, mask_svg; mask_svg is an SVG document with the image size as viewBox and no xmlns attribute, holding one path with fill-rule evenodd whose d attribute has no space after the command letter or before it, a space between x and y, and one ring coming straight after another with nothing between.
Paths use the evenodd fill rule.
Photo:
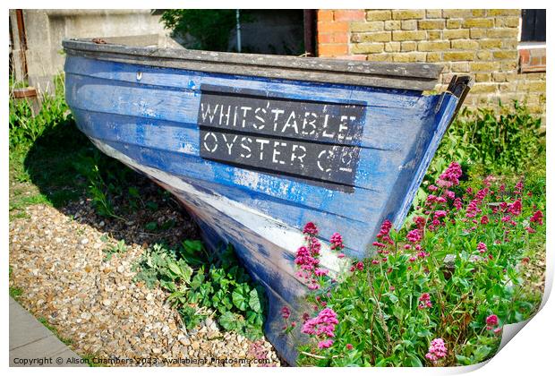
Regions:
<instances>
[{"instance_id":1,"label":"tan pebble gravel ground in front of the boat","mask_svg":"<svg viewBox=\"0 0 555 376\"><path fill-rule=\"evenodd\" d=\"M279 365L269 342L220 331L210 318L187 331L165 303L164 291L133 281L132 265L150 244L171 245L196 235L176 205L160 208L138 210L126 222L99 218L87 200L64 209L26 208L27 218L10 223L10 286L21 288L18 300L70 339L80 355L155 358L158 364L180 358L258 358ZM152 220L160 225L172 220L175 226L149 233L144 228ZM127 251L105 260L104 250L121 239Z\"/></svg>"}]
</instances>

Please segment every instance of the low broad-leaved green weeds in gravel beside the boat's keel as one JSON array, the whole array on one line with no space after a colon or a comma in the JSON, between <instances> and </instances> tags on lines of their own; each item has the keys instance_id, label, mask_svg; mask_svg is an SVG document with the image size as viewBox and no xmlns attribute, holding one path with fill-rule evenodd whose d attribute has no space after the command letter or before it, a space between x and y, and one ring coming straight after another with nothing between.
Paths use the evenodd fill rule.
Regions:
<instances>
[{"instance_id":1,"label":"low broad-leaved green weeds in gravel beside the boat's keel","mask_svg":"<svg viewBox=\"0 0 555 376\"><path fill-rule=\"evenodd\" d=\"M155 244L134 266L136 279L168 293L167 301L180 313L187 329L195 328L211 312L218 324L251 339L262 337L266 302L228 245L210 253L201 241L186 240L176 251Z\"/></svg>"}]
</instances>

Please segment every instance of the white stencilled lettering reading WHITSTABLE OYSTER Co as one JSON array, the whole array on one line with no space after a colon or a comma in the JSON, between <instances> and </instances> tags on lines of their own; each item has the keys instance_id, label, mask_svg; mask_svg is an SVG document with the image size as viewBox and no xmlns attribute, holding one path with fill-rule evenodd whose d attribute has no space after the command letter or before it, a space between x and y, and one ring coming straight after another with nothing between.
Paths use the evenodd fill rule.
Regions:
<instances>
[{"instance_id":1,"label":"white stencilled lettering reading WHITSTABLE OYSTER Co","mask_svg":"<svg viewBox=\"0 0 555 376\"><path fill-rule=\"evenodd\" d=\"M248 105L210 102L201 101L199 124L249 134L203 132L201 150L204 152L225 152L229 157L247 162L303 168L307 158L312 157L307 150L312 144L306 141L324 141L327 147L312 150L320 172L336 169L352 173L356 166L358 148L337 145L349 145L360 138L363 114L354 106L303 103L296 107L272 107L269 100L256 103L261 100L252 98ZM264 137L266 134L303 141L276 140Z\"/></svg>"}]
</instances>

